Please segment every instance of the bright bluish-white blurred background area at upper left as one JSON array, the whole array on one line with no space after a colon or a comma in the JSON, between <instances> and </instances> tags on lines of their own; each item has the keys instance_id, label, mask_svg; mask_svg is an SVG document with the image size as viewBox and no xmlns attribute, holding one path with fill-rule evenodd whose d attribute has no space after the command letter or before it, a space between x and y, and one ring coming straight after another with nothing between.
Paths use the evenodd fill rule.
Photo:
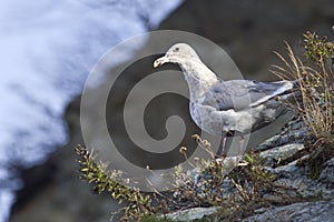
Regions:
<instances>
[{"instance_id":1,"label":"bright bluish-white blurred background area at upper left","mask_svg":"<svg viewBox=\"0 0 334 222\"><path fill-rule=\"evenodd\" d=\"M62 115L98 59L155 28L180 0L0 2L0 171L41 163L67 141ZM0 173L0 180L9 180ZM0 222L13 188L0 186Z\"/></svg>"}]
</instances>

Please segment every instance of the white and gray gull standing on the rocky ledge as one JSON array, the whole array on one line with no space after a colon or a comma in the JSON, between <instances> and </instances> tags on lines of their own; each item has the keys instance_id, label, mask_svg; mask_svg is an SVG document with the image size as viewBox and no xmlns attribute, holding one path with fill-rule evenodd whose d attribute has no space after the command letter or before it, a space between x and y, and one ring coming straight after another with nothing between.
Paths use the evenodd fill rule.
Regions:
<instances>
[{"instance_id":1,"label":"white and gray gull standing on the rocky ledge","mask_svg":"<svg viewBox=\"0 0 334 222\"><path fill-rule=\"evenodd\" d=\"M178 64L189 88L189 111L204 131L220 135L217 157L224 153L227 137L244 135L259 130L285 114L283 100L295 95L296 81L259 82L255 80L224 81L206 67L187 43L171 46L154 61L154 68ZM242 153L239 153L242 154Z\"/></svg>"}]
</instances>

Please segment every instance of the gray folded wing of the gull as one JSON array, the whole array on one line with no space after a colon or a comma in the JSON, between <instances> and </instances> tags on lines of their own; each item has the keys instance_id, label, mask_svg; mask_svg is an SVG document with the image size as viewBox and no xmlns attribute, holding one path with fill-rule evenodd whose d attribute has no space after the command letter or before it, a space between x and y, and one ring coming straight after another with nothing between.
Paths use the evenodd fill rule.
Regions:
<instances>
[{"instance_id":1,"label":"gray folded wing of the gull","mask_svg":"<svg viewBox=\"0 0 334 222\"><path fill-rule=\"evenodd\" d=\"M202 104L217 110L244 110L264 103L276 95L291 92L291 81L258 82L250 80L219 81L202 98Z\"/></svg>"}]
</instances>

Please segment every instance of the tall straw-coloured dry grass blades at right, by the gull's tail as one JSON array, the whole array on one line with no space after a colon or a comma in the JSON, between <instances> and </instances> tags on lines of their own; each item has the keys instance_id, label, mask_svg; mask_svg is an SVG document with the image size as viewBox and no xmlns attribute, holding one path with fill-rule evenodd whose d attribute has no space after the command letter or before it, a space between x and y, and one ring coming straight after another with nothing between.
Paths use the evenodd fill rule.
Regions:
<instances>
[{"instance_id":1,"label":"tall straw-coloured dry grass blades at right, by the gull's tail","mask_svg":"<svg viewBox=\"0 0 334 222\"><path fill-rule=\"evenodd\" d=\"M299 97L287 107L295 110L304 123L307 125L311 135L316 139L316 143L333 144L334 133L334 109L333 109L333 67L330 62L331 48L311 49L318 46L313 33L305 36L305 56L315 68L304 65L287 46L287 58L276 53L284 62L284 67L274 65L272 72L282 79L297 80ZM312 41L312 42L311 42ZM310 43L311 42L311 43ZM310 46L312 44L312 46Z\"/></svg>"}]
</instances>

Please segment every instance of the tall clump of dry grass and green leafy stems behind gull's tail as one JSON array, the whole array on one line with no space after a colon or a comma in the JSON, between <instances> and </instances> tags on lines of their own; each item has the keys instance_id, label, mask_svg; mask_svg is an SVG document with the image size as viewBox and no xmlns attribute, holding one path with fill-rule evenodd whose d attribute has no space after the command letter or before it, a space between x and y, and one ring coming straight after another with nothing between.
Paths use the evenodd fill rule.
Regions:
<instances>
[{"instance_id":1,"label":"tall clump of dry grass and green leafy stems behind gull's tail","mask_svg":"<svg viewBox=\"0 0 334 222\"><path fill-rule=\"evenodd\" d=\"M304 61L287 46L287 58L276 53L284 62L272 71L282 79L296 80L301 97L286 105L294 110L308 129L305 145L312 178L321 173L322 164L334 157L334 43L313 32L304 34ZM303 164L304 164L303 163Z\"/></svg>"}]
</instances>

